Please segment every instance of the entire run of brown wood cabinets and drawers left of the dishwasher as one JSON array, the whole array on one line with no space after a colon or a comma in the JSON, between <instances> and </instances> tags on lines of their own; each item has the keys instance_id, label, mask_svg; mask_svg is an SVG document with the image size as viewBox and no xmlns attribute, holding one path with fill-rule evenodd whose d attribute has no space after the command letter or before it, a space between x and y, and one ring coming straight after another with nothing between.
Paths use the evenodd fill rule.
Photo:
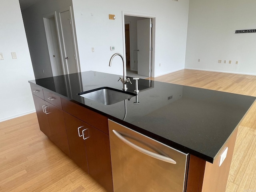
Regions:
<instances>
[{"instance_id":1,"label":"entire run of brown wood cabinets and drawers left of the dishwasher","mask_svg":"<svg viewBox=\"0 0 256 192\"><path fill-rule=\"evenodd\" d=\"M113 191L108 118L31 85L40 130L108 192Z\"/></svg>"}]
</instances>

